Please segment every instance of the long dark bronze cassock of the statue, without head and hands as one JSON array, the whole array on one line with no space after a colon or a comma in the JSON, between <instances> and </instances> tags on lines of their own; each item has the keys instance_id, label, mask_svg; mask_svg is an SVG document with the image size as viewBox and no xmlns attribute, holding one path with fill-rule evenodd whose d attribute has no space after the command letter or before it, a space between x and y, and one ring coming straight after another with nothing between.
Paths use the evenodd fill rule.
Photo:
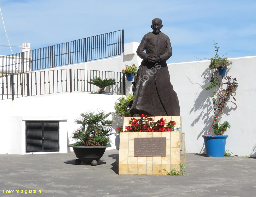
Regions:
<instances>
[{"instance_id":1,"label":"long dark bronze cassock of the statue, without head and hands","mask_svg":"<svg viewBox=\"0 0 256 197\"><path fill-rule=\"evenodd\" d=\"M172 56L169 37L162 32L147 33L141 40L137 55L143 60L133 81L131 116L179 116L179 100L170 82L166 64L166 60ZM160 61L150 63L150 56L160 57Z\"/></svg>"}]
</instances>

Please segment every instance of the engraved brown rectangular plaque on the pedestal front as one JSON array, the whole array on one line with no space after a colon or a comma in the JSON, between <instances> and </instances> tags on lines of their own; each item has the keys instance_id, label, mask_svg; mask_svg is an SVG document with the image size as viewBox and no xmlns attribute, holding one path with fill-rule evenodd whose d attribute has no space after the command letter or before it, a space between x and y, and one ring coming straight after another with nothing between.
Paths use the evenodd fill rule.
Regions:
<instances>
[{"instance_id":1,"label":"engraved brown rectangular plaque on the pedestal front","mask_svg":"<svg viewBox=\"0 0 256 197\"><path fill-rule=\"evenodd\" d=\"M134 157L165 156L165 137L134 138Z\"/></svg>"}]
</instances>

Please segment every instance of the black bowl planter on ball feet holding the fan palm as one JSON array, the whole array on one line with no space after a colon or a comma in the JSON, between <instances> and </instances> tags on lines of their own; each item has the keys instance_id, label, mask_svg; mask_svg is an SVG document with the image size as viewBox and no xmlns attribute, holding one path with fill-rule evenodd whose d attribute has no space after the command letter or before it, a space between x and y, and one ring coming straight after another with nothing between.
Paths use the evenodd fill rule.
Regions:
<instances>
[{"instance_id":1,"label":"black bowl planter on ball feet holding the fan palm","mask_svg":"<svg viewBox=\"0 0 256 197\"><path fill-rule=\"evenodd\" d=\"M91 164L96 166L99 159L103 156L107 146L75 146L73 144L68 144L68 147L72 147L74 153L78 159L75 160L75 164L79 165L82 162L85 164Z\"/></svg>"}]
</instances>

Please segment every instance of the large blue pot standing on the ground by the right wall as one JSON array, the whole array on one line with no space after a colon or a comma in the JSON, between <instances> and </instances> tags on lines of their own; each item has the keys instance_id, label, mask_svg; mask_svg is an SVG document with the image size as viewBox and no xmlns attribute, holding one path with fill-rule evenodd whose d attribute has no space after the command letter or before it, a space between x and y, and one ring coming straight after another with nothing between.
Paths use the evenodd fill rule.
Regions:
<instances>
[{"instance_id":1,"label":"large blue pot standing on the ground by the right wall","mask_svg":"<svg viewBox=\"0 0 256 197\"><path fill-rule=\"evenodd\" d=\"M208 157L224 157L228 135L202 135Z\"/></svg>"}]
</instances>

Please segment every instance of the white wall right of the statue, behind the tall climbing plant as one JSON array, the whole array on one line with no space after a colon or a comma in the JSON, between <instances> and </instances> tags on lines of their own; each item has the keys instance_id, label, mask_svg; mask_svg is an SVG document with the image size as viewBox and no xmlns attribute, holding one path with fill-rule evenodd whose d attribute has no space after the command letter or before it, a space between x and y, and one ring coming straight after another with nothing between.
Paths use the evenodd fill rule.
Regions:
<instances>
[{"instance_id":1,"label":"white wall right of the statue, behind the tall climbing plant","mask_svg":"<svg viewBox=\"0 0 256 197\"><path fill-rule=\"evenodd\" d=\"M230 58L233 64L227 75L238 79L237 108L228 103L222 121L228 121L231 128L226 149L232 155L256 157L256 88L253 79L256 74L256 56ZM213 122L212 91L206 91L204 73L208 73L209 60L168 64L171 83L179 97L182 116L182 131L185 132L186 151L203 153L204 141Z\"/></svg>"}]
</instances>

